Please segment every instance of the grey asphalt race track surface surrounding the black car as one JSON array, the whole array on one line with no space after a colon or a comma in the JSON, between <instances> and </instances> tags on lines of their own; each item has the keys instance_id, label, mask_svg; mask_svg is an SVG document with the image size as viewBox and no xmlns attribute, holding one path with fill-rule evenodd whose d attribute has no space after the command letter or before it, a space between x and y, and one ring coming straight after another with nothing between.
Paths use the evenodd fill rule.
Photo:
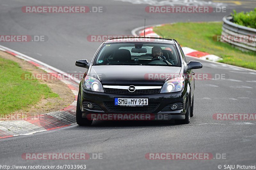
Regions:
<instances>
[{"instance_id":1,"label":"grey asphalt race track surface surrounding the black car","mask_svg":"<svg viewBox=\"0 0 256 170\"><path fill-rule=\"evenodd\" d=\"M84 72L74 66L77 59L91 59L100 42L88 35L131 35L146 24L185 21L220 21L231 12L250 10L255 1L241 5L228 3L227 13L148 14L148 4L120 1L14 1L0 3L1 35L47 35L46 42L0 44L43 61L67 73ZM251 5L248 5L251 3ZM104 13L33 14L22 6L104 6ZM189 60L196 60L188 58ZM195 116L187 125L154 122L94 121L92 127L73 125L0 140L1 165L85 164L87 169L218 169L218 165L255 166L256 121L217 121L215 113L255 113L256 72L202 61L196 73L224 74L225 80L197 80ZM24 160L22 153L88 152L103 153L97 160ZM226 159L147 160L149 152L225 153Z\"/></svg>"}]
</instances>

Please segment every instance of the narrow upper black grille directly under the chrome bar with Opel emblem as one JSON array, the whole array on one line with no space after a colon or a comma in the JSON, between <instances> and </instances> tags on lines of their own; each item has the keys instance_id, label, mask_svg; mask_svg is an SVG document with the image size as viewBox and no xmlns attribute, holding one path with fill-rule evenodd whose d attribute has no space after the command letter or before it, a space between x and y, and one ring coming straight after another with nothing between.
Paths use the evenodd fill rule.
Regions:
<instances>
[{"instance_id":1,"label":"narrow upper black grille directly under the chrome bar with Opel emblem","mask_svg":"<svg viewBox=\"0 0 256 170\"><path fill-rule=\"evenodd\" d=\"M129 92L128 89L112 89L112 88L104 88L105 93L112 93L112 94L157 94L159 93L160 89L137 89L134 92Z\"/></svg>"}]
</instances>

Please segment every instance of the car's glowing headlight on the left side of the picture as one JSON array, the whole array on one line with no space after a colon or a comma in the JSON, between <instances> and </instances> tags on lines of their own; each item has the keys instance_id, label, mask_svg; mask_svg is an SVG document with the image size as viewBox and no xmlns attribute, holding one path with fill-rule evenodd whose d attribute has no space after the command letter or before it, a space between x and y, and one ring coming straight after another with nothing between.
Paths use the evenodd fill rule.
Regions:
<instances>
[{"instance_id":1,"label":"car's glowing headlight on the left side of the picture","mask_svg":"<svg viewBox=\"0 0 256 170\"><path fill-rule=\"evenodd\" d=\"M84 77L83 86L86 90L104 92L100 81L92 76Z\"/></svg>"}]
</instances>

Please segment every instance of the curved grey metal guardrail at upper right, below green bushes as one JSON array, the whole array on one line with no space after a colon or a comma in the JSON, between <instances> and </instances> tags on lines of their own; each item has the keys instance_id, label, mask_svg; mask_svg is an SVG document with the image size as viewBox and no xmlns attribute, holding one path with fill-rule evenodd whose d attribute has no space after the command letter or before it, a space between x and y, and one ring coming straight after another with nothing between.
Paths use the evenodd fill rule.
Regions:
<instances>
[{"instance_id":1,"label":"curved grey metal guardrail at upper right, below green bushes","mask_svg":"<svg viewBox=\"0 0 256 170\"><path fill-rule=\"evenodd\" d=\"M232 19L231 15L222 19L222 41L230 43L242 51L252 50L256 52L256 29L237 25L231 22Z\"/></svg>"}]
</instances>

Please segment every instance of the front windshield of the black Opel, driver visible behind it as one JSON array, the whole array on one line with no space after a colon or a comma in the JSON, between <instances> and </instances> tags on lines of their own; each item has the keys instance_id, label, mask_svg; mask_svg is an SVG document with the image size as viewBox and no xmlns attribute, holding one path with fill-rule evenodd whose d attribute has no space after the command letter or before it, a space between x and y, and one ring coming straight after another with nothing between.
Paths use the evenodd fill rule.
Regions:
<instances>
[{"instance_id":1,"label":"front windshield of the black Opel, driver visible behind it","mask_svg":"<svg viewBox=\"0 0 256 170\"><path fill-rule=\"evenodd\" d=\"M180 67L180 57L173 44L109 43L101 47L93 64Z\"/></svg>"}]
</instances>

